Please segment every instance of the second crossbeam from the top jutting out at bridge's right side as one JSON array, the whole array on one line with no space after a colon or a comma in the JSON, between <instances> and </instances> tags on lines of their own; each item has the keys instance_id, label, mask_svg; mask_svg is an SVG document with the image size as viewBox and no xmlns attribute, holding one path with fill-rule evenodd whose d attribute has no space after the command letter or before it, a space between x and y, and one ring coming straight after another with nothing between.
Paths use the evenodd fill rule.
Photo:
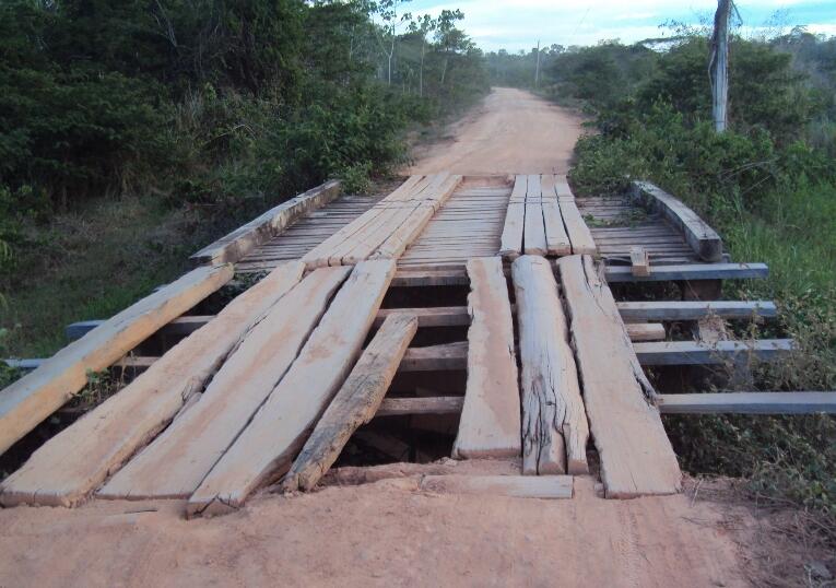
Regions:
<instances>
[{"instance_id":1,"label":"second crossbeam from the top jutting out at bridge's right side","mask_svg":"<svg viewBox=\"0 0 836 588\"><path fill-rule=\"evenodd\" d=\"M699 320L709 316L725 319L752 319L778 315L775 303L768 301L620 302L617 306L625 321Z\"/></svg>"}]
</instances>

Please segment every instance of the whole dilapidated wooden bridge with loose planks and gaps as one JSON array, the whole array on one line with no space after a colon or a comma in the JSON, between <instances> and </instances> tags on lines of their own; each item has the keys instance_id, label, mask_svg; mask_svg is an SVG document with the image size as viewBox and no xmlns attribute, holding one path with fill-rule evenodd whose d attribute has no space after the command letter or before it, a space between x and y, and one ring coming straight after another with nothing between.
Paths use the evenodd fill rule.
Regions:
<instances>
[{"instance_id":1,"label":"whole dilapidated wooden bridge with loose planks and gaps","mask_svg":"<svg viewBox=\"0 0 836 588\"><path fill-rule=\"evenodd\" d=\"M2 482L3 505L179 498L223 513L276 482L314 487L346 444L519 460L519 475L457 478L462 492L567 498L574 475L597 475L607 497L671 494L661 413L836 410L828 392L657 393L647 367L745 380L793 345L734 338L729 321L776 308L720 299L722 280L767 268L731 262L649 184L576 199L553 175L412 176L385 197L331 181L195 258L119 315L70 326L73 343L0 392L5 451L90 371L128 376ZM248 274L263 277L222 304Z\"/></svg>"}]
</instances>

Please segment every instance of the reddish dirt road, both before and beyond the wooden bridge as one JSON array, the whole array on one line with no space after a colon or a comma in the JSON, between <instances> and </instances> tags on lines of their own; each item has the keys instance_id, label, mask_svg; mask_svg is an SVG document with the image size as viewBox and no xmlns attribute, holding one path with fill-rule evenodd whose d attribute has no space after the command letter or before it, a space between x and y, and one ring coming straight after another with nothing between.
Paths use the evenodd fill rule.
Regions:
<instances>
[{"instance_id":1,"label":"reddish dirt road, both before and beyond the wooden bridge","mask_svg":"<svg viewBox=\"0 0 836 588\"><path fill-rule=\"evenodd\" d=\"M497 90L416 169L565 172L578 132L577 119L558 108ZM177 501L10 508L0 511L0 587L684 588L804 577L806 554L787 565L794 543L776 546L779 533L749 508L704 501L706 492L698 499L607 501L591 478L576 479L575 497L563 501L419 490L424 473L473 471L518 466L447 460L346 469L329 474L319 492L262 492L215 519L186 520Z\"/></svg>"}]
</instances>

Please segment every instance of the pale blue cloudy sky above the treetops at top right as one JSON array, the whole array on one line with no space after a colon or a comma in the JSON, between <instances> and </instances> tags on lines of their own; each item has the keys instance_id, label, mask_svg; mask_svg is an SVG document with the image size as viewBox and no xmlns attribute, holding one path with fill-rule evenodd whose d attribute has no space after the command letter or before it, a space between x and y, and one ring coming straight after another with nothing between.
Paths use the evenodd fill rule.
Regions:
<instances>
[{"instance_id":1,"label":"pale blue cloudy sky above the treetops at top right","mask_svg":"<svg viewBox=\"0 0 836 588\"><path fill-rule=\"evenodd\" d=\"M806 25L811 33L836 35L836 0L761 0L737 2L743 21L744 36L775 30L776 21L784 32L794 25ZM716 0L412 0L402 10L413 15L437 15L444 9L464 13L462 28L484 50L529 50L552 44L563 46L594 45L601 39L633 43L646 38L670 36L659 27L666 21L698 25L711 22Z\"/></svg>"}]
</instances>

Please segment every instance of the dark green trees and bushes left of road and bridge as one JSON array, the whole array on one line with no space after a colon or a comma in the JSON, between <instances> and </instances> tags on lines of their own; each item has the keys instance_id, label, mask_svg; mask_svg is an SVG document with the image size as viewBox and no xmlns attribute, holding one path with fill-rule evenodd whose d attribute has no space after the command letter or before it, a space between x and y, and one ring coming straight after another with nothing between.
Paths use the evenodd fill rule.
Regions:
<instances>
[{"instance_id":1,"label":"dark green trees and bushes left of road and bridge","mask_svg":"<svg viewBox=\"0 0 836 588\"><path fill-rule=\"evenodd\" d=\"M200 245L487 90L462 14L401 0L0 3L0 328L47 355Z\"/></svg>"}]
</instances>

